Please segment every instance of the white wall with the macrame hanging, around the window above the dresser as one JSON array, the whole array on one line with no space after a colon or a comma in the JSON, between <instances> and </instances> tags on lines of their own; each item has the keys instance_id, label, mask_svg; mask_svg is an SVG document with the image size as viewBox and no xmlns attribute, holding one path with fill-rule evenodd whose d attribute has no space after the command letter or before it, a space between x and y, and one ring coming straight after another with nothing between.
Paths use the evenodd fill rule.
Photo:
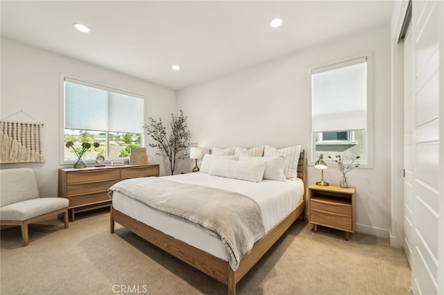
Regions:
<instances>
[{"instance_id":1,"label":"white wall with the macrame hanging, around the window above the dresser","mask_svg":"<svg viewBox=\"0 0 444 295\"><path fill-rule=\"evenodd\" d=\"M145 97L144 117L165 118L169 122L176 110L176 91L123 75L108 69L80 62L63 55L1 39L1 119L21 109L44 124L44 163L3 164L1 168L34 168L40 194L56 197L60 152L65 148L60 132L60 73L83 78L106 86L126 89ZM23 114L8 120L33 122ZM148 140L146 136L145 141ZM155 151L148 149L148 161L159 163ZM65 166L69 167L69 166ZM161 173L166 174L165 166Z\"/></svg>"}]
</instances>

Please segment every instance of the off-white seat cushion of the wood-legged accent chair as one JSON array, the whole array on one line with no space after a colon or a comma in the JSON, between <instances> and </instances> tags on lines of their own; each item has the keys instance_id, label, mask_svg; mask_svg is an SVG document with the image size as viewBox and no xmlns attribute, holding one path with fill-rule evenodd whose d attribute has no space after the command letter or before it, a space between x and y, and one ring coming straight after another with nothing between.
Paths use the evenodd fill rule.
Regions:
<instances>
[{"instance_id":1,"label":"off-white seat cushion of the wood-legged accent chair","mask_svg":"<svg viewBox=\"0 0 444 295\"><path fill-rule=\"evenodd\" d=\"M69 200L63 197L28 199L0 208L0 220L29 220L68 206Z\"/></svg>"}]
</instances>

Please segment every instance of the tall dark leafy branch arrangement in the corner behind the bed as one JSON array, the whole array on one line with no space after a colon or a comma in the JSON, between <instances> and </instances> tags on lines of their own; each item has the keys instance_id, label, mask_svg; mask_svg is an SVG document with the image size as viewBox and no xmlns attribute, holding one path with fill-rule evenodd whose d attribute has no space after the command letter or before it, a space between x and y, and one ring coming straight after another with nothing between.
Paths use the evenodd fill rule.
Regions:
<instances>
[{"instance_id":1,"label":"tall dark leafy branch arrangement in the corner behind the bed","mask_svg":"<svg viewBox=\"0 0 444 295\"><path fill-rule=\"evenodd\" d=\"M189 157L188 150L191 145L191 132L187 127L187 118L184 116L183 111L180 110L180 115L171 114L171 134L167 134L167 128L165 127L162 118L154 120L148 118L150 123L145 125L144 128L155 143L149 143L150 147L157 147L159 152L156 154L160 156L166 155L169 159L171 175L174 174L176 169L176 161L187 159Z\"/></svg>"}]
</instances>

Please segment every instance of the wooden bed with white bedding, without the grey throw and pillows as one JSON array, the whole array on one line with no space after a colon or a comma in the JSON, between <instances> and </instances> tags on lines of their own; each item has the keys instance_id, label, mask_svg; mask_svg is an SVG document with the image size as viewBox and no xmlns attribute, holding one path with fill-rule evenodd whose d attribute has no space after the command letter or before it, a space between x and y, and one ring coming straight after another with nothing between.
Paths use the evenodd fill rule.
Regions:
<instances>
[{"instance_id":1,"label":"wooden bed with white bedding, without the grey throw and pillows","mask_svg":"<svg viewBox=\"0 0 444 295\"><path fill-rule=\"evenodd\" d=\"M242 256L233 256L225 240L222 238L221 241L221 236L203 231L201 226L196 226L188 220L185 222L181 217L171 217L169 214L159 212L155 207L146 206L137 197L128 197L130 193L126 190L119 190L114 186L110 188L112 198L110 232L114 233L114 222L118 222L144 240L227 285L228 294L234 295L239 280L298 217L304 219L307 188L304 150L300 152L296 163L298 178L286 181L264 179L260 183L255 183L200 172L157 179L157 181L172 181L171 184L177 184L180 189L182 186L187 188L187 186L204 184L215 190L230 188L230 191L233 190L240 195L255 196L257 198L255 201L263 213L261 217L265 235L255 240L253 248L242 253ZM170 183L167 182L167 184ZM128 182L126 187L128 186L133 186L133 183ZM258 195L256 187L260 187L262 192L258 197L256 197ZM275 195L275 192L283 196L280 197L282 200L278 205L272 204L268 198L268 195Z\"/></svg>"}]
</instances>

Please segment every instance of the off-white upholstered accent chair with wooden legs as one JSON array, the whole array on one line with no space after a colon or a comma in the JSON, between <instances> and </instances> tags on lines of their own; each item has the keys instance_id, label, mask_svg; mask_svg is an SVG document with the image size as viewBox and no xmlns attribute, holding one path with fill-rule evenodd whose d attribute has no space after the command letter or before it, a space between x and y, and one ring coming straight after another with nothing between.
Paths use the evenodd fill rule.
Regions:
<instances>
[{"instance_id":1,"label":"off-white upholstered accent chair with wooden legs","mask_svg":"<svg viewBox=\"0 0 444 295\"><path fill-rule=\"evenodd\" d=\"M40 197L31 168L0 170L0 225L22 226L23 245L28 245L28 224L64 215L69 227L69 201L62 197Z\"/></svg>"}]
</instances>

